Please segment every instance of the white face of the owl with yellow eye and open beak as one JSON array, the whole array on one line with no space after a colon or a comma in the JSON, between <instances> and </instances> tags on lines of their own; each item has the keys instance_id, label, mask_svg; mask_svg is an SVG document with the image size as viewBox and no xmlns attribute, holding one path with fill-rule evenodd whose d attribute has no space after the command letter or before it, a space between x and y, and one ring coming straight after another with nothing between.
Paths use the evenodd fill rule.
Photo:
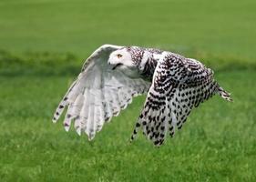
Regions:
<instances>
[{"instance_id":1,"label":"white face of the owl with yellow eye and open beak","mask_svg":"<svg viewBox=\"0 0 256 182\"><path fill-rule=\"evenodd\" d=\"M113 69L134 68L136 65L131 59L130 53L126 48L119 49L110 54L108 64L113 66Z\"/></svg>"}]
</instances>

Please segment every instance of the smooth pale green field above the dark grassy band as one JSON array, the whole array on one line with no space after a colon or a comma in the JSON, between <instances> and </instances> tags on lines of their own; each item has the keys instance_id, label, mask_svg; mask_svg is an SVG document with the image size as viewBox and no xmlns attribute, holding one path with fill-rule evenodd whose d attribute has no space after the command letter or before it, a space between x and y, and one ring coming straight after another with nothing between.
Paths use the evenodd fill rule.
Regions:
<instances>
[{"instance_id":1,"label":"smooth pale green field above the dark grassy band","mask_svg":"<svg viewBox=\"0 0 256 182\"><path fill-rule=\"evenodd\" d=\"M84 58L109 43L251 61L255 5L254 0L1 0L0 49Z\"/></svg>"}]
</instances>

